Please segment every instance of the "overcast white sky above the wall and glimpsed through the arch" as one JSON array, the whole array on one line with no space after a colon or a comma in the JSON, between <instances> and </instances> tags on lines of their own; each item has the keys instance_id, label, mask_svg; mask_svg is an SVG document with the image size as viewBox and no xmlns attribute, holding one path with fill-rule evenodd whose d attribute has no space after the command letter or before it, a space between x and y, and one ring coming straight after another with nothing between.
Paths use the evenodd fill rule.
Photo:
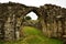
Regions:
<instances>
[{"instance_id":1,"label":"overcast white sky above the wall and glimpsed through the arch","mask_svg":"<svg viewBox=\"0 0 66 44\"><path fill-rule=\"evenodd\" d=\"M40 7L44 6L45 3L52 3L66 8L66 0L0 0L0 2L9 2L9 1L19 2L32 7ZM30 14L32 15L32 13ZM33 15L32 18L35 19L36 16Z\"/></svg>"}]
</instances>

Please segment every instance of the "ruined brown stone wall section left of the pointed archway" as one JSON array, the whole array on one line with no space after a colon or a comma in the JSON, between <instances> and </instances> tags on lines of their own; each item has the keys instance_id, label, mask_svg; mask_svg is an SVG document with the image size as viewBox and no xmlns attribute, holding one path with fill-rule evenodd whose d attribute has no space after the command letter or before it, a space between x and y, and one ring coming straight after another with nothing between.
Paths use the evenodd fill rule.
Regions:
<instances>
[{"instance_id":1,"label":"ruined brown stone wall section left of the pointed archway","mask_svg":"<svg viewBox=\"0 0 66 44\"><path fill-rule=\"evenodd\" d=\"M30 10L20 3L0 3L0 37L4 41L19 40L23 16Z\"/></svg>"}]
</instances>

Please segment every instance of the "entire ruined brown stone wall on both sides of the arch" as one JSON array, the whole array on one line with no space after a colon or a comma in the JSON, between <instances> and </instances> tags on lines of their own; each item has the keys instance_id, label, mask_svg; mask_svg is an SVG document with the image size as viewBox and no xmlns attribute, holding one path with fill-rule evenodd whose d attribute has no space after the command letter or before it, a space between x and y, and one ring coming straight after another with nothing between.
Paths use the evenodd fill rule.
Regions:
<instances>
[{"instance_id":1,"label":"entire ruined brown stone wall on both sides of the arch","mask_svg":"<svg viewBox=\"0 0 66 44\"><path fill-rule=\"evenodd\" d=\"M23 18L31 11L38 16L45 36L66 40L66 9L55 4L40 8L21 3L0 3L0 40L13 41L23 36Z\"/></svg>"}]
</instances>

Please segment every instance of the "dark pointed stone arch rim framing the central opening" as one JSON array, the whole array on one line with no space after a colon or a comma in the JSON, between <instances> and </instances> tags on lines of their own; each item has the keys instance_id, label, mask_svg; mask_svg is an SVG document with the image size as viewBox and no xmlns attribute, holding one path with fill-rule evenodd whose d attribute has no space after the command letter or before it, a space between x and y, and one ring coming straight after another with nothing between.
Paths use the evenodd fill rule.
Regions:
<instances>
[{"instance_id":1,"label":"dark pointed stone arch rim framing the central opening","mask_svg":"<svg viewBox=\"0 0 66 44\"><path fill-rule=\"evenodd\" d=\"M40 13L38 13L38 11L36 10L37 8L32 8L30 11L28 11L24 15L22 15L22 16L20 16L21 19L22 19L22 24L21 24L21 28L23 28L23 22L24 22L24 16L28 14L28 13L30 13L30 12L34 12L38 18L37 18L37 20L38 20L38 28L37 26L35 26L36 29L41 29L42 30L42 24L41 24L41 15L40 15ZM20 31L20 33L22 33L21 31ZM23 35L23 34L20 34L20 35Z\"/></svg>"}]
</instances>

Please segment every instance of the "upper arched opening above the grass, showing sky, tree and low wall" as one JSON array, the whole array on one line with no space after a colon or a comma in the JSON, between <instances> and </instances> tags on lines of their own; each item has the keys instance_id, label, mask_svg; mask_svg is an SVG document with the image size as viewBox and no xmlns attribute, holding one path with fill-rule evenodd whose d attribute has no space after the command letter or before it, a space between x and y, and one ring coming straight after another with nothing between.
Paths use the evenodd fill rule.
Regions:
<instances>
[{"instance_id":1,"label":"upper arched opening above the grass, showing sky, tree and low wall","mask_svg":"<svg viewBox=\"0 0 66 44\"><path fill-rule=\"evenodd\" d=\"M31 11L29 12L25 16L24 16L24 22L23 22L24 26L34 26L37 28L38 25L38 15Z\"/></svg>"}]
</instances>

